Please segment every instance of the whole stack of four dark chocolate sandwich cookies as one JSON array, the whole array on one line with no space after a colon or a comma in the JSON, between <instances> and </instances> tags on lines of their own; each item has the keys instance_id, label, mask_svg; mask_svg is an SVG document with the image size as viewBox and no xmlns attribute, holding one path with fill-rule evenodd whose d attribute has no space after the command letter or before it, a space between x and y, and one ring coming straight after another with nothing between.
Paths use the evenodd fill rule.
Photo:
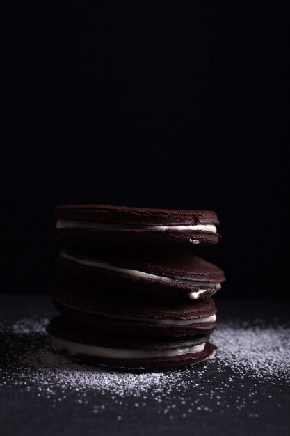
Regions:
<instances>
[{"instance_id":1,"label":"whole stack of four dark chocolate sandwich cookies","mask_svg":"<svg viewBox=\"0 0 290 436\"><path fill-rule=\"evenodd\" d=\"M223 271L193 254L216 244L216 213L107 205L56 208L59 245L47 327L56 352L114 368L211 359L211 298Z\"/></svg>"}]
</instances>

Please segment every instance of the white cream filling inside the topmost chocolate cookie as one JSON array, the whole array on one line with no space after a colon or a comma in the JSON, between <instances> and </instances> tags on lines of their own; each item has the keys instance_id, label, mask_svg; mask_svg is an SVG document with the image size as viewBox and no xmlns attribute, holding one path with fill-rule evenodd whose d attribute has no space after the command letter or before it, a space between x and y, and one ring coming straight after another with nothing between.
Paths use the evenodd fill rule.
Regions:
<instances>
[{"instance_id":1,"label":"white cream filling inside the topmost chocolate cookie","mask_svg":"<svg viewBox=\"0 0 290 436\"><path fill-rule=\"evenodd\" d=\"M118 229L135 229L135 230L192 230L192 231L207 231L216 233L217 229L214 224L196 224L194 226L138 226L135 224L119 224L119 223L102 223L97 221L83 221L78 219L58 219L56 228L92 228L96 230L118 230Z\"/></svg>"}]
</instances>

